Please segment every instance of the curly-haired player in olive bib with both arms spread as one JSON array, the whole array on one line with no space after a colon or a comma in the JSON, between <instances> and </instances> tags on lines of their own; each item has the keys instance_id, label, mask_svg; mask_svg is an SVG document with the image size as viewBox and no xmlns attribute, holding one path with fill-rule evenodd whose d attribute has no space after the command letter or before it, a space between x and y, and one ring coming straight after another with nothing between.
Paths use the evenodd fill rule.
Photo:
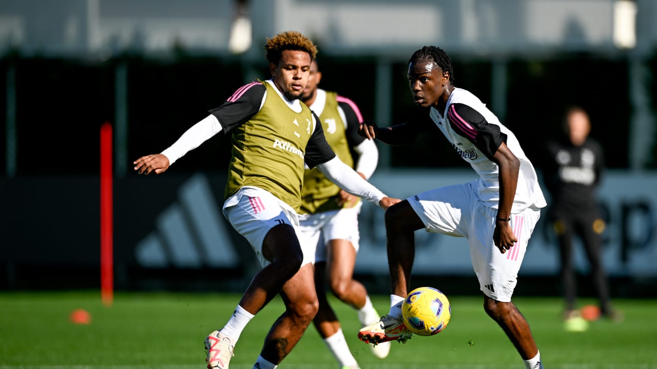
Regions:
<instances>
[{"instance_id":1,"label":"curly-haired player in olive bib with both arms spread","mask_svg":"<svg viewBox=\"0 0 657 369\"><path fill-rule=\"evenodd\" d=\"M384 209L399 202L340 162L319 118L298 100L317 53L315 45L301 33L283 32L267 40L265 51L271 79L240 87L161 154L134 162L140 174L160 174L217 133L232 135L223 214L250 242L262 269L225 326L206 337L208 368L229 367L242 330L277 294L285 311L268 330L254 368L276 368L317 313L311 263L315 248L304 250L298 239L304 163Z\"/></svg>"}]
</instances>

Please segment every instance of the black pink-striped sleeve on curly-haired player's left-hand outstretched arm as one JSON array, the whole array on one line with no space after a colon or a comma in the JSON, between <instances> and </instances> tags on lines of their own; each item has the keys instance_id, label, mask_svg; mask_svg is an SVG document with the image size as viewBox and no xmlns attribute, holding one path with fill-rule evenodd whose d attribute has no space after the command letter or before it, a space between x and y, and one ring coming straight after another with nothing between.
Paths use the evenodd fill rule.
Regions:
<instances>
[{"instance_id":1,"label":"black pink-striped sleeve on curly-haired player's left-hand outstretched arm","mask_svg":"<svg viewBox=\"0 0 657 369\"><path fill-rule=\"evenodd\" d=\"M222 131L228 133L260 111L260 104L266 91L267 88L260 82L249 83L237 89L221 106L209 112L219 119Z\"/></svg>"}]
</instances>

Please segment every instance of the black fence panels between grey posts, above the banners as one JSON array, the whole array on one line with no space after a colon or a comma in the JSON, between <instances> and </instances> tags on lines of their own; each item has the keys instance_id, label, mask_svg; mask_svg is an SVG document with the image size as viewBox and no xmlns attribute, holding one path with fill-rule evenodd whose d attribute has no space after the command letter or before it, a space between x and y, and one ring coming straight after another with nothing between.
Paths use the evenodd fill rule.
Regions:
<instances>
[{"instance_id":1,"label":"black fence panels between grey posts, above the banners","mask_svg":"<svg viewBox=\"0 0 657 369\"><path fill-rule=\"evenodd\" d=\"M657 70L657 62L652 62ZM116 70L125 66L124 102L116 101ZM265 60L245 66L235 58L179 56L170 60L125 56L103 62L78 59L5 57L0 86L15 79L16 175L89 175L97 173L100 125L127 111L127 158L162 150L207 110L219 106L246 75L269 77ZM374 58L323 58L321 87L354 100L365 118L374 118L377 86ZM456 85L476 93L491 106L489 59L454 58ZM413 105L405 62L392 68L392 121L403 121ZM631 107L628 60L566 54L507 63L506 118L503 123L524 142L526 154L540 166L545 140L560 134L566 106L589 110L592 136L602 142L607 165L628 166ZM652 96L657 83L646 81ZM7 112L7 88L0 88L0 108ZM652 103L656 104L653 99ZM127 105L127 106L125 106ZM0 142L7 142L8 114L0 114ZM392 167L461 167L447 145L425 137L411 147L392 148ZM217 135L189 154L181 167L192 173L215 171L229 156L227 138ZM656 148L657 150L657 148ZM657 151L656 151L657 154ZM655 155L657 156L657 155ZM47 158L47 160L46 160ZM440 158L440 160L436 160ZM0 172L7 173L7 150L0 150ZM12 159L12 158L10 158ZM650 167L657 167L653 160ZM219 168L221 169L221 168Z\"/></svg>"}]
</instances>

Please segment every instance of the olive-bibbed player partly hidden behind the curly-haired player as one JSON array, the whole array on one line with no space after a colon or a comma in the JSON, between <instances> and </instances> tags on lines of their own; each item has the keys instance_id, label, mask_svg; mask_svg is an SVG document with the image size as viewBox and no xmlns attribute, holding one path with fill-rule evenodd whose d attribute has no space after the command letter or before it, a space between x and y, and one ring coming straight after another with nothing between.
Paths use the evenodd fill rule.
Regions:
<instances>
[{"instance_id":1,"label":"olive-bibbed player partly hidden behind the curly-haired player","mask_svg":"<svg viewBox=\"0 0 657 369\"><path fill-rule=\"evenodd\" d=\"M317 61L313 60L308 83L300 99L319 117L327 142L338 158L351 165L363 179L368 179L378 161L376 144L358 134L363 121L358 106L349 98L320 89L321 78ZM357 154L357 160L351 156L351 150ZM340 365L358 368L338 317L328 304L326 286L340 301L358 311L361 326L372 324L380 318L365 286L353 279L360 238L358 214L363 202L340 189L317 169L306 169L301 195L301 213L307 213L307 216L300 222L300 242L317 246L315 288L319 311L313 324ZM372 351L376 357L387 357L390 342L373 345Z\"/></svg>"}]
</instances>

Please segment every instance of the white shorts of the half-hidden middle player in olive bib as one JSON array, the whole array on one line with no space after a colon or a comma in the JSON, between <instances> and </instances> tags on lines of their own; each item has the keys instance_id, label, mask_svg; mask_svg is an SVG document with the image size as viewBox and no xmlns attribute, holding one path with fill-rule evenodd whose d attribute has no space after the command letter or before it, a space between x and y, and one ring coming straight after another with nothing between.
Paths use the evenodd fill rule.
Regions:
<instances>
[{"instance_id":1,"label":"white shorts of the half-hidden middle player in olive bib","mask_svg":"<svg viewBox=\"0 0 657 369\"><path fill-rule=\"evenodd\" d=\"M359 201L353 207L308 214L300 218L302 245L315 249L315 263L327 261L327 244L330 240L348 240L358 253L360 232L358 215L363 207ZM305 247L305 246L304 246Z\"/></svg>"}]
</instances>

